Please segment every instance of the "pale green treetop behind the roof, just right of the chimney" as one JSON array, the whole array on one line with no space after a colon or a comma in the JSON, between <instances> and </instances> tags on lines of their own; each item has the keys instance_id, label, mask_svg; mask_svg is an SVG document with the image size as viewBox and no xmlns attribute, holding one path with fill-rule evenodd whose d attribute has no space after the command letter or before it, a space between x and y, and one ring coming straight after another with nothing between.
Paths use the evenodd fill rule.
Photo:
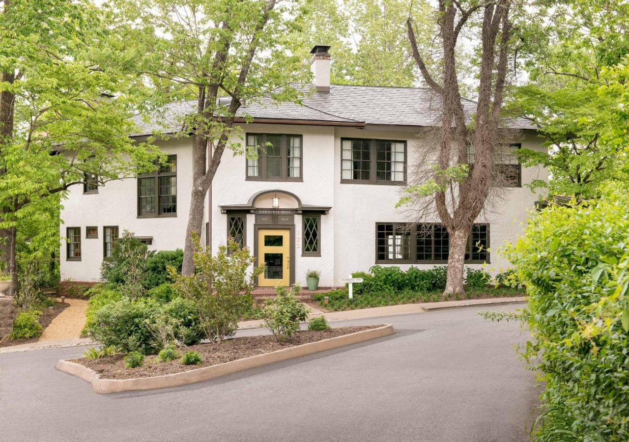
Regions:
<instances>
[{"instance_id":1,"label":"pale green treetop behind the roof, just right of the chimney","mask_svg":"<svg viewBox=\"0 0 629 442\"><path fill-rule=\"evenodd\" d=\"M416 38L430 45L434 16L425 2L320 0L309 13L304 47L331 45L330 77L337 84L415 86L416 67L406 40L411 13Z\"/></svg>"}]
</instances>

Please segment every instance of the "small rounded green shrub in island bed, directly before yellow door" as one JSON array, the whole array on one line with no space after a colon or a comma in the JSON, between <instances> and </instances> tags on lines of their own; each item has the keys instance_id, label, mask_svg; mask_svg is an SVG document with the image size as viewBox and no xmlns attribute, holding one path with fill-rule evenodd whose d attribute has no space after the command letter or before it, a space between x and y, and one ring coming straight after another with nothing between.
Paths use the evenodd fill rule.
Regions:
<instances>
[{"instance_id":1,"label":"small rounded green shrub in island bed, directly before yellow door","mask_svg":"<svg viewBox=\"0 0 629 442\"><path fill-rule=\"evenodd\" d=\"M277 287L277 296L266 301L262 309L264 326L273 333L278 342L297 333L299 323L306 321L308 311L297 299L299 289L299 284L293 285L290 291L283 286Z\"/></svg>"}]
</instances>

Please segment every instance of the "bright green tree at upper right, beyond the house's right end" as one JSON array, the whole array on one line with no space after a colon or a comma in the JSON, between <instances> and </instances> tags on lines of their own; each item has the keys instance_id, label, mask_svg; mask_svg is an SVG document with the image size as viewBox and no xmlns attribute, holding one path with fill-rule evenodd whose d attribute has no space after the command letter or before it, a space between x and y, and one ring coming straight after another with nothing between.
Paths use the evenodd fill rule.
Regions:
<instances>
[{"instance_id":1,"label":"bright green tree at upper right, beyond the house's right end","mask_svg":"<svg viewBox=\"0 0 629 442\"><path fill-rule=\"evenodd\" d=\"M543 5L544 3L542 3ZM553 2L544 19L529 21L535 35L521 51L528 82L511 105L537 124L548 152L522 150L528 164L548 167L553 194L595 197L604 180L629 182L626 144L609 138L626 106L601 91L617 84L606 74L629 53L629 4L606 0Z\"/></svg>"}]
</instances>

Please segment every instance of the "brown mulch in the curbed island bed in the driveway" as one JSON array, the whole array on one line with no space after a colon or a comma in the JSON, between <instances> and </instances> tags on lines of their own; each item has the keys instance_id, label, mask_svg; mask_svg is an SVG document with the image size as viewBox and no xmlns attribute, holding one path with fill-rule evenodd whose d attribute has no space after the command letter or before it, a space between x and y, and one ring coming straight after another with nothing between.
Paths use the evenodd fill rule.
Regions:
<instances>
[{"instance_id":1,"label":"brown mulch in the curbed island bed in the driveway","mask_svg":"<svg viewBox=\"0 0 629 442\"><path fill-rule=\"evenodd\" d=\"M223 343L207 343L184 346L179 351L181 355L187 351L198 351L203 358L199 365L182 365L181 358L170 362L161 362L155 355L148 356L144 365L138 368L126 368L124 355L114 355L108 358L73 359L72 362L80 363L99 373L101 379L129 379L181 373L197 368L210 367L224 362L235 361L249 356L270 353L283 348L294 347L301 344L335 338L343 334L355 333L381 327L381 325L353 326L332 328L325 331L300 331L291 337L291 340L277 343L273 336L243 336L223 341Z\"/></svg>"}]
</instances>

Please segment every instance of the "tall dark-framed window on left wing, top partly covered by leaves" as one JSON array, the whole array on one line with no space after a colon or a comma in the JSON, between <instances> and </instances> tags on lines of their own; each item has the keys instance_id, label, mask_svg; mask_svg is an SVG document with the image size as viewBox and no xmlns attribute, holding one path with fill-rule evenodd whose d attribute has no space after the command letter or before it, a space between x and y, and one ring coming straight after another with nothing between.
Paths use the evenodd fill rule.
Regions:
<instances>
[{"instance_id":1,"label":"tall dark-framed window on left wing, top partly covered by leaves","mask_svg":"<svg viewBox=\"0 0 629 442\"><path fill-rule=\"evenodd\" d=\"M177 155L152 174L138 177L138 216L176 216Z\"/></svg>"}]
</instances>

